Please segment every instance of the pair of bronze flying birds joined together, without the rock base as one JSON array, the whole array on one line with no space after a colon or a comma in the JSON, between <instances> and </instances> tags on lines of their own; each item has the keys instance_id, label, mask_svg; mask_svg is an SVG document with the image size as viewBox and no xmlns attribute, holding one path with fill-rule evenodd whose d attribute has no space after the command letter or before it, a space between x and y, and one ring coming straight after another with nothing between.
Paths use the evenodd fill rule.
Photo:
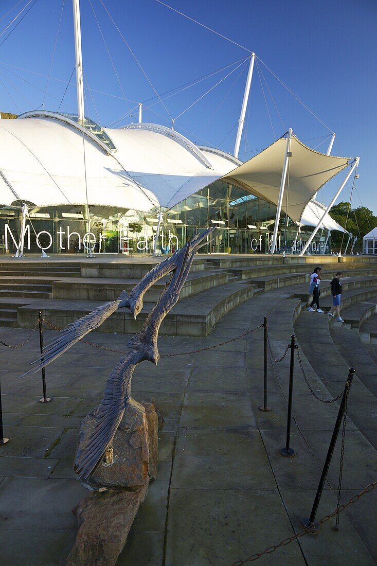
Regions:
<instances>
[{"instance_id":1,"label":"pair of bronze flying birds joined together, without the rock base","mask_svg":"<svg viewBox=\"0 0 377 566\"><path fill-rule=\"evenodd\" d=\"M179 299L196 250L203 246L207 241L207 236L214 229L210 228L203 234L194 237L180 251L157 264L132 289L130 295L123 291L117 301L98 307L91 314L84 316L70 324L67 329L59 332L58 337L50 343L36 362L33 362L32 370L24 374L34 373L48 365L88 332L98 328L117 308L127 306L131 311L133 309L136 318L143 305L145 291L161 277L172 273L172 277L162 291L155 307L145 320L142 331L127 342L130 352L115 366L106 381L95 427L76 467L79 479L85 481L89 477L104 456L106 448L112 442L131 396L131 379L136 365L144 360L157 365L160 358L157 337L162 320Z\"/></svg>"}]
</instances>

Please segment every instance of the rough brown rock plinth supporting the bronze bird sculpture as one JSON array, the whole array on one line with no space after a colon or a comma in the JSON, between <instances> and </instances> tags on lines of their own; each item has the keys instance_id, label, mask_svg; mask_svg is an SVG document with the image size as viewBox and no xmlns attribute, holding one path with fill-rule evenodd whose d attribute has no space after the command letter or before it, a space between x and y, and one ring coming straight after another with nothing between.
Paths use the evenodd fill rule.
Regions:
<instances>
[{"instance_id":1,"label":"rough brown rock plinth supporting the bronze bird sculpture","mask_svg":"<svg viewBox=\"0 0 377 566\"><path fill-rule=\"evenodd\" d=\"M98 407L83 419L75 466L95 426ZM66 566L112 566L158 468L158 428L163 419L154 403L130 399L112 450L88 478L93 493L75 509L78 534Z\"/></svg>"}]
</instances>

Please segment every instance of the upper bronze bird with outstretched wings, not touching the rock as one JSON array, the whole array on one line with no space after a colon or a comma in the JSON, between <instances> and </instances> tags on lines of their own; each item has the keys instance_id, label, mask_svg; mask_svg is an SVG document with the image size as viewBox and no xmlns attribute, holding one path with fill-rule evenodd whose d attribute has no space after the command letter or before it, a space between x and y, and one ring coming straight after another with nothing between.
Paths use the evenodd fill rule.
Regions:
<instances>
[{"instance_id":1,"label":"upper bronze bird with outstretched wings, not touching the rock","mask_svg":"<svg viewBox=\"0 0 377 566\"><path fill-rule=\"evenodd\" d=\"M215 230L215 228L216 226L205 230L202 234L197 234L185 246L188 246L188 250L192 254L195 254L195 252L201 246L203 246L204 243L207 242L208 235L210 235L213 230ZM68 327L61 330L58 333L57 337L55 337L44 348L43 354L38 356L38 358L32 362L32 369L25 372L25 374L23 374L23 377L26 375L35 374L37 371L40 371L42 367L46 367L49 363L53 362L60 355L65 353L65 351L70 349L71 346L76 344L76 342L86 336L89 332L100 327L101 324L103 324L104 321L113 314L113 312L118 310L118 308L131 308L132 303L135 302L138 298L142 302L144 294L153 284L156 283L156 281L174 271L175 267L177 267L177 264L182 258L183 249L184 248L175 252L175 254L173 254L169 258L166 258L164 261L157 263L155 267L153 267L151 271L146 273L142 280L140 280L139 283L135 285L129 295L126 293L126 291L122 291L117 301L106 303L105 305L96 308L96 310L90 312L88 315L85 315L75 322L68 324Z\"/></svg>"}]
</instances>

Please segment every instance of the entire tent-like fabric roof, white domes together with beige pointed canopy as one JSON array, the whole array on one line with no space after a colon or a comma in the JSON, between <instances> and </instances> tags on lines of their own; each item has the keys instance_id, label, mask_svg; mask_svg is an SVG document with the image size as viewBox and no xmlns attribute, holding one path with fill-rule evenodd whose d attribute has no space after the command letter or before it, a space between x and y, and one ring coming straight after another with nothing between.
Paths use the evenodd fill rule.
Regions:
<instances>
[{"instance_id":1,"label":"entire tent-like fabric roof, white domes together with beige pointed canopy","mask_svg":"<svg viewBox=\"0 0 377 566\"><path fill-rule=\"evenodd\" d=\"M112 153L88 131L83 136L67 117L43 111L24 116L0 121L2 205L18 199L38 207L88 202L147 212L153 206L172 208L217 179L277 204L284 138L242 164L217 149L198 147L164 126L103 128L117 148ZM316 152L295 136L291 152L286 212L302 225L307 203L349 160ZM284 195L284 212L285 203ZM310 207L306 224L307 215L314 218L318 212ZM323 225L331 229L333 222L327 217Z\"/></svg>"}]
</instances>

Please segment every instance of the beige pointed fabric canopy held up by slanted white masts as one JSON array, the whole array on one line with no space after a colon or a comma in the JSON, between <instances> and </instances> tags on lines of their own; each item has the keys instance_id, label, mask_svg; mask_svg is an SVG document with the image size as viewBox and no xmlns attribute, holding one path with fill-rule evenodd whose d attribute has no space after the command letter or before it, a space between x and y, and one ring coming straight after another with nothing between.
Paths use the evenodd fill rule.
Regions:
<instances>
[{"instance_id":1,"label":"beige pointed fabric canopy held up by slanted white masts","mask_svg":"<svg viewBox=\"0 0 377 566\"><path fill-rule=\"evenodd\" d=\"M301 222L306 204L320 187L349 164L349 158L319 153L304 145L294 135L290 152L292 157L289 159L288 171L288 207L285 187L282 210L295 222ZM280 138L237 169L224 175L222 181L234 183L255 196L277 204L285 153L286 140Z\"/></svg>"}]
</instances>

